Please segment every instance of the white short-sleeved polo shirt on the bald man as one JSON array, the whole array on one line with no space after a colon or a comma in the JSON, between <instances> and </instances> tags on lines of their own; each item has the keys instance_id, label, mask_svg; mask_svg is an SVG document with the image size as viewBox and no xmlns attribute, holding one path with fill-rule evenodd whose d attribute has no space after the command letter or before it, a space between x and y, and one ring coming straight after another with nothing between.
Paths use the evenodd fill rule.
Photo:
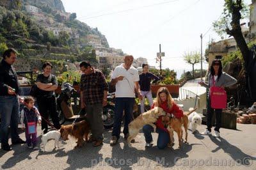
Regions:
<instances>
[{"instance_id":1,"label":"white short-sleeved polo shirt on the bald man","mask_svg":"<svg viewBox=\"0 0 256 170\"><path fill-rule=\"evenodd\" d=\"M116 79L118 76L124 76L122 81L116 82L116 97L135 97L134 82L140 81L139 73L134 66L131 66L129 70L126 70L122 65L116 66L114 72L111 75L111 79Z\"/></svg>"}]
</instances>

